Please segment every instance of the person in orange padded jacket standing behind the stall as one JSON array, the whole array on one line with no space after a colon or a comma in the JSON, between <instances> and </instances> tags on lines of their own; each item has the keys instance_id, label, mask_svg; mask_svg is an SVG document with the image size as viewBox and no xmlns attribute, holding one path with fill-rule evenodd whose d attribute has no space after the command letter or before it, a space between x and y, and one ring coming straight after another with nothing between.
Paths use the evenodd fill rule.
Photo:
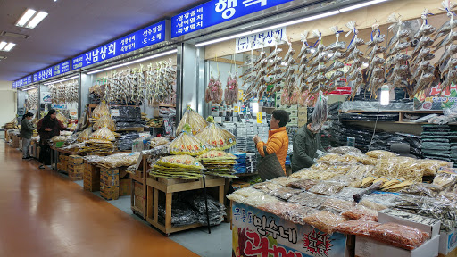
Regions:
<instances>
[{"instance_id":1,"label":"person in orange padded jacket standing behind the stall","mask_svg":"<svg viewBox=\"0 0 457 257\"><path fill-rule=\"evenodd\" d=\"M275 110L272 113L270 120L270 130L268 132L268 141L265 144L261 141L261 137L253 137L253 142L257 147L257 151L265 157L263 146L267 146L267 153L276 153L279 162L281 163L282 170L286 176L286 156L289 148L289 137L287 136L286 125L289 122L289 113L284 110Z\"/></svg>"}]
</instances>

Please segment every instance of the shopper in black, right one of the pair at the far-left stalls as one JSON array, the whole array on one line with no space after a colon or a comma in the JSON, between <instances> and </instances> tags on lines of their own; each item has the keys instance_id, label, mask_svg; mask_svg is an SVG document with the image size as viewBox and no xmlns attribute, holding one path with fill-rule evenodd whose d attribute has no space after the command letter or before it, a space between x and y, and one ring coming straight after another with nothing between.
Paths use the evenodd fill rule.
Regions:
<instances>
[{"instance_id":1,"label":"shopper in black, right one of the pair at the far-left stalls","mask_svg":"<svg viewBox=\"0 0 457 257\"><path fill-rule=\"evenodd\" d=\"M61 120L58 120L54 109L49 110L45 118L38 121L37 130L39 134L39 169L45 169L45 165L51 164L51 148L49 140L61 135L61 130L65 129Z\"/></svg>"}]
</instances>

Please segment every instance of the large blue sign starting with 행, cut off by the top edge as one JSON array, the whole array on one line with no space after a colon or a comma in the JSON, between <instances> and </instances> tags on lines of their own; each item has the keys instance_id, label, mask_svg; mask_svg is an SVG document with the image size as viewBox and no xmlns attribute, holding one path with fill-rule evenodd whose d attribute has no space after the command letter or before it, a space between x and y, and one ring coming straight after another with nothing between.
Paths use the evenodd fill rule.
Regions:
<instances>
[{"instance_id":1,"label":"large blue sign starting with \ud589, cut off by the top edge","mask_svg":"<svg viewBox=\"0 0 457 257\"><path fill-rule=\"evenodd\" d=\"M259 12L293 0L212 0L171 18L171 37ZM239 2L239 3L238 3Z\"/></svg>"}]
</instances>

